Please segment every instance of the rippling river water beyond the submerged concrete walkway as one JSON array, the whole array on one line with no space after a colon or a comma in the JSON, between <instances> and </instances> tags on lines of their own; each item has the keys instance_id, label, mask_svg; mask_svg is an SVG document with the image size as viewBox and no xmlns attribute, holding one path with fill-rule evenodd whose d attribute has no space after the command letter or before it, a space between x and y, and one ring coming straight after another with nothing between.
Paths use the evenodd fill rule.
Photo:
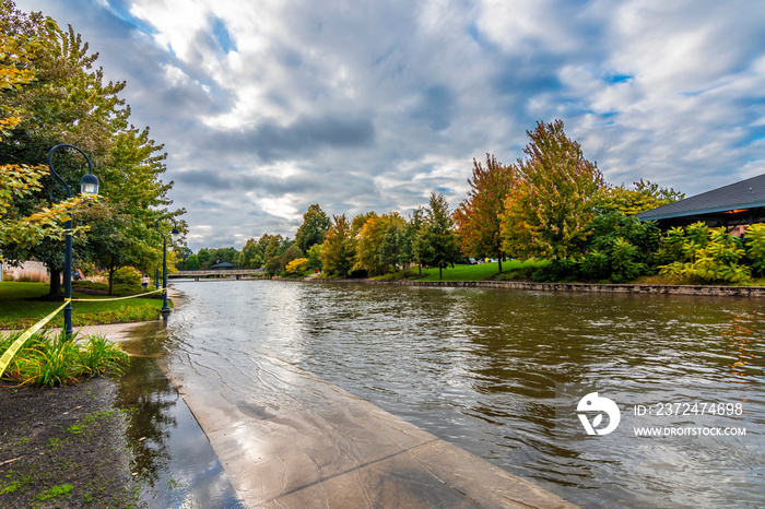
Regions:
<instances>
[{"instance_id":1,"label":"rippling river water beyond the submerged concrete walkway","mask_svg":"<svg viewBox=\"0 0 765 509\"><path fill-rule=\"evenodd\" d=\"M762 300L175 287L187 301L168 322L169 369L191 366L243 398L279 383L259 369L279 359L585 507L765 506ZM577 405L596 391L620 422L589 436L579 414L604 424Z\"/></svg>"}]
</instances>

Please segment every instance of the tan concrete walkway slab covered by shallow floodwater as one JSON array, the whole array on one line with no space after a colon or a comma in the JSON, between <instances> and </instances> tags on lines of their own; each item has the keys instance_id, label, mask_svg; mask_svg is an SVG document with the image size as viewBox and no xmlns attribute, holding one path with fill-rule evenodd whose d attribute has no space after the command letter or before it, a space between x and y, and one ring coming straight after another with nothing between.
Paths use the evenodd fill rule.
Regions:
<instances>
[{"instance_id":1,"label":"tan concrete walkway slab covered by shallow floodwater","mask_svg":"<svg viewBox=\"0 0 765 509\"><path fill-rule=\"evenodd\" d=\"M574 507L307 371L268 364L289 394L245 401L219 377L168 374L249 507Z\"/></svg>"}]
</instances>

